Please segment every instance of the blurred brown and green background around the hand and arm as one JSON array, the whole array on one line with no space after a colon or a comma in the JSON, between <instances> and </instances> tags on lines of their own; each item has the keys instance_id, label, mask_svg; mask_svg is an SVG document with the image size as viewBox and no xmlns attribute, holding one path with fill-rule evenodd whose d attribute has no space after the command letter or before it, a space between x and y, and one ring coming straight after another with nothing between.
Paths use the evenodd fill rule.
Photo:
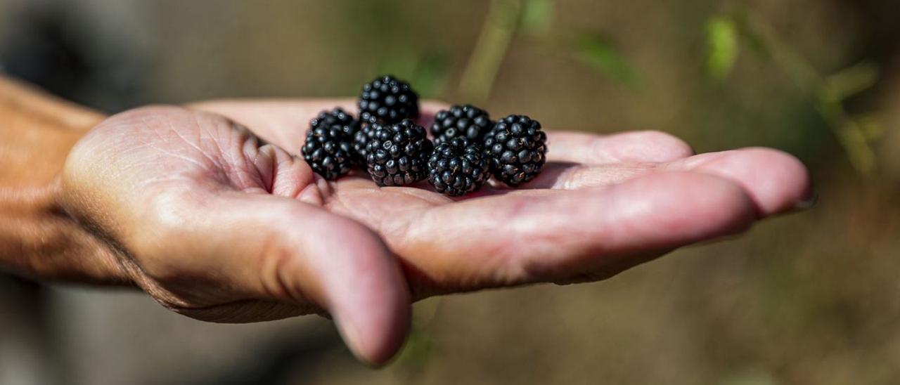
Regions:
<instances>
[{"instance_id":1,"label":"blurred brown and green background around the hand and arm","mask_svg":"<svg viewBox=\"0 0 900 385\"><path fill-rule=\"evenodd\" d=\"M0 0L0 71L104 112L392 73L550 129L780 148L820 194L606 282L423 301L381 371L319 318L205 324L0 277L0 384L897 383L897 20L895 0Z\"/></svg>"}]
</instances>

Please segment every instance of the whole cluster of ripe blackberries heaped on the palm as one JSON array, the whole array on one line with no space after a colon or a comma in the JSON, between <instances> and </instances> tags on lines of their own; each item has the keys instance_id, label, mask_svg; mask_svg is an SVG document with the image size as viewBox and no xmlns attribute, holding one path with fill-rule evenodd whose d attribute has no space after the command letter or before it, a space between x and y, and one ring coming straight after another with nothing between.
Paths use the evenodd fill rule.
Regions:
<instances>
[{"instance_id":1,"label":"whole cluster of ripe blackberries heaped on the palm","mask_svg":"<svg viewBox=\"0 0 900 385\"><path fill-rule=\"evenodd\" d=\"M310 121L302 154L316 174L337 179L362 166L375 183L401 186L428 179L438 193L464 195L491 175L510 186L534 179L544 168L546 134L524 115L491 121L488 112L455 105L437 112L434 142L419 118L419 95L393 76L363 86L359 120L335 108Z\"/></svg>"}]
</instances>

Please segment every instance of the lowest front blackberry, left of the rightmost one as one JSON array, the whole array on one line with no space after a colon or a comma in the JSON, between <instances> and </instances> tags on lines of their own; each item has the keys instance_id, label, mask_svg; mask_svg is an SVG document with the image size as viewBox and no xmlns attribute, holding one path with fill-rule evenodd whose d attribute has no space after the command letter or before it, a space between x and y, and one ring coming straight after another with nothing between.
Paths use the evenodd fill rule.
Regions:
<instances>
[{"instance_id":1,"label":"lowest front blackberry, left of the rightmost one","mask_svg":"<svg viewBox=\"0 0 900 385\"><path fill-rule=\"evenodd\" d=\"M437 145L428 158L428 183L435 186L437 193L472 193L489 177L491 162L488 156L481 146L465 138L447 139Z\"/></svg>"}]
</instances>

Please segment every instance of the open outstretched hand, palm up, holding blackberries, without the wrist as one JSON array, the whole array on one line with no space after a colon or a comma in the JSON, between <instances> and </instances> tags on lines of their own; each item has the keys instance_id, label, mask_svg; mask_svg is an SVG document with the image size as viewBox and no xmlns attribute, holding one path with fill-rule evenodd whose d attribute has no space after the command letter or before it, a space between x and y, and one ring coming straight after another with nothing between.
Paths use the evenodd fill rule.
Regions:
<instances>
[{"instance_id":1,"label":"open outstretched hand, palm up, holding blackberries, without the wrist","mask_svg":"<svg viewBox=\"0 0 900 385\"><path fill-rule=\"evenodd\" d=\"M295 155L311 117L336 104L354 110L320 100L121 113L73 148L61 205L169 309L217 322L327 312L357 356L383 363L408 331L410 300L601 280L809 193L786 154L691 157L647 131L551 131L535 181L462 199L365 175L329 183ZM441 107L425 103L423 123Z\"/></svg>"}]
</instances>

